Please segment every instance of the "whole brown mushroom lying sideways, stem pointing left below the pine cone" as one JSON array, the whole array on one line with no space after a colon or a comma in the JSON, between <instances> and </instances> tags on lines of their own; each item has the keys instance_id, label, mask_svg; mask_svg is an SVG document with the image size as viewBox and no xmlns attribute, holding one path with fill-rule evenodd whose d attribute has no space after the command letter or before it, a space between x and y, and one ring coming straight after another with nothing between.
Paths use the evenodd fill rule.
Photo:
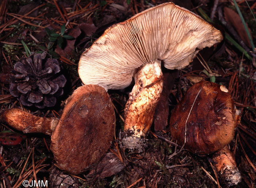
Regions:
<instances>
[{"instance_id":1,"label":"whole brown mushroom lying sideways, stem pointing left below the pine cone","mask_svg":"<svg viewBox=\"0 0 256 188\"><path fill-rule=\"evenodd\" d=\"M85 85L67 99L59 120L7 109L0 114L0 121L24 133L52 134L50 149L56 166L75 175L97 162L109 149L115 114L105 89Z\"/></svg>"}]
</instances>

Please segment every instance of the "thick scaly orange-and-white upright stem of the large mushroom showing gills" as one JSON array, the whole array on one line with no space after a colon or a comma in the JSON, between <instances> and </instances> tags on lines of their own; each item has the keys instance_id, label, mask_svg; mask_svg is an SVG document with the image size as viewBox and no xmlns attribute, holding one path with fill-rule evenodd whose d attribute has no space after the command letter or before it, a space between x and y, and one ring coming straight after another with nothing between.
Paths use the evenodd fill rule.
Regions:
<instances>
[{"instance_id":1,"label":"thick scaly orange-and-white upright stem of the large mushroom showing gills","mask_svg":"<svg viewBox=\"0 0 256 188\"><path fill-rule=\"evenodd\" d=\"M134 79L135 85L125 105L123 142L125 148L141 152L163 89L161 62L155 60L143 65Z\"/></svg>"}]
</instances>

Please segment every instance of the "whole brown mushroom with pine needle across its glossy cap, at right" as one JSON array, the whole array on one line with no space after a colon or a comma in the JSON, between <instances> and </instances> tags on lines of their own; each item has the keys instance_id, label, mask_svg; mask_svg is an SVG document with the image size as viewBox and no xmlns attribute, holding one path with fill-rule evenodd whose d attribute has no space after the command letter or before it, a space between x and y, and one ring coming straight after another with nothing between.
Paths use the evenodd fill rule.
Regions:
<instances>
[{"instance_id":1,"label":"whole brown mushroom with pine needle across its glossy cap, at right","mask_svg":"<svg viewBox=\"0 0 256 188\"><path fill-rule=\"evenodd\" d=\"M205 155L216 152L213 159L222 183L229 186L241 181L233 155L227 144L240 122L239 110L223 85L202 81L190 87L174 108L170 131L177 143L190 152Z\"/></svg>"}]
</instances>

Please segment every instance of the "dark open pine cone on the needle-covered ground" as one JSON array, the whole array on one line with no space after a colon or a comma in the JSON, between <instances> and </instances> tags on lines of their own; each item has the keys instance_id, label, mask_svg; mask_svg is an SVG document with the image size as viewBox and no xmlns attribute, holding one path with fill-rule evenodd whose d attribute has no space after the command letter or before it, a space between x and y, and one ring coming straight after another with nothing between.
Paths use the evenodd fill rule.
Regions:
<instances>
[{"instance_id":1,"label":"dark open pine cone on the needle-covered ground","mask_svg":"<svg viewBox=\"0 0 256 188\"><path fill-rule=\"evenodd\" d=\"M56 104L56 97L63 94L67 81L59 72L57 59L45 62L42 54L21 58L14 65L15 76L10 84L10 94L25 106L52 107Z\"/></svg>"}]
</instances>

